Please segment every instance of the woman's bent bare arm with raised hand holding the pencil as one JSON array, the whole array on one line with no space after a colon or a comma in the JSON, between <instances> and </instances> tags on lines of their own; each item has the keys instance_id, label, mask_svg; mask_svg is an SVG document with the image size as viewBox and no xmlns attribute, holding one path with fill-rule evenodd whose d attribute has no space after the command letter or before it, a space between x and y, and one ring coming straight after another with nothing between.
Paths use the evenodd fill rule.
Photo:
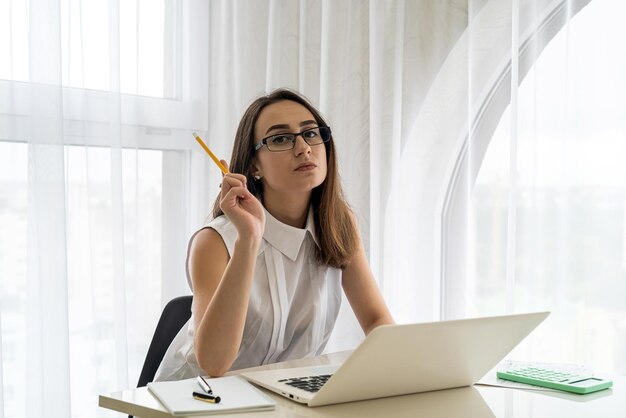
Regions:
<instances>
[{"instance_id":1,"label":"woman's bent bare arm with raised hand holding the pencil","mask_svg":"<svg viewBox=\"0 0 626 418\"><path fill-rule=\"evenodd\" d=\"M226 161L222 164L227 166ZM263 206L248 191L241 174L224 176L220 208L237 229L230 259L222 237L207 228L194 237L189 260L196 321L194 348L198 364L210 376L227 372L239 351L265 229Z\"/></svg>"}]
</instances>

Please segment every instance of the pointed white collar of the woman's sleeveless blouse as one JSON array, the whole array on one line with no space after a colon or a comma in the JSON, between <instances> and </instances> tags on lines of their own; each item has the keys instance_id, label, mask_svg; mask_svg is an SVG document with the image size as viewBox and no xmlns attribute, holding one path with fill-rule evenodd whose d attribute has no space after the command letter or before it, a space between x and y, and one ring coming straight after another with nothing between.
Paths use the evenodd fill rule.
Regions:
<instances>
[{"instance_id":1,"label":"pointed white collar of the woman's sleeveless blouse","mask_svg":"<svg viewBox=\"0 0 626 418\"><path fill-rule=\"evenodd\" d=\"M317 235L315 234L313 208L309 208L304 229L295 228L280 222L265 209L265 231L263 232L263 238L292 261L296 260L307 233L311 235L313 242L319 247Z\"/></svg>"}]
</instances>

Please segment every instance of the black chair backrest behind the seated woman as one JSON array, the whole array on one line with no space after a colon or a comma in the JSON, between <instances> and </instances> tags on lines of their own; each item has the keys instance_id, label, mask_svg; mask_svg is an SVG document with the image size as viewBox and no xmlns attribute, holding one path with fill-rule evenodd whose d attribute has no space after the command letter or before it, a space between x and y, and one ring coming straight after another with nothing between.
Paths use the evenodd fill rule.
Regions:
<instances>
[{"instance_id":1,"label":"black chair backrest behind the seated woman","mask_svg":"<svg viewBox=\"0 0 626 418\"><path fill-rule=\"evenodd\" d=\"M167 348L178 331L191 317L191 299L192 296L179 296L170 300L163 308L146 359L143 362L137 387L146 386L148 382L152 382L154 379Z\"/></svg>"}]
</instances>

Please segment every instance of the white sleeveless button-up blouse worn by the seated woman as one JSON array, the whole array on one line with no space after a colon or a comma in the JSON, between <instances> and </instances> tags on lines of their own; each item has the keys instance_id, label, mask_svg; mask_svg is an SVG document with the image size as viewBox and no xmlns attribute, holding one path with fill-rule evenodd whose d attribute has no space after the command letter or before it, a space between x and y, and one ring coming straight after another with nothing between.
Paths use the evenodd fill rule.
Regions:
<instances>
[{"instance_id":1,"label":"white sleeveless button-up blouse worn by the seated woman","mask_svg":"<svg viewBox=\"0 0 626 418\"><path fill-rule=\"evenodd\" d=\"M341 270L315 260L313 211L304 229L281 223L267 210L265 219L243 338L231 370L321 354L339 313ZM226 216L204 228L217 231L232 254L237 230ZM189 275L187 281L192 287ZM155 381L204 374L196 361L193 335L192 311L165 353Z\"/></svg>"}]
</instances>

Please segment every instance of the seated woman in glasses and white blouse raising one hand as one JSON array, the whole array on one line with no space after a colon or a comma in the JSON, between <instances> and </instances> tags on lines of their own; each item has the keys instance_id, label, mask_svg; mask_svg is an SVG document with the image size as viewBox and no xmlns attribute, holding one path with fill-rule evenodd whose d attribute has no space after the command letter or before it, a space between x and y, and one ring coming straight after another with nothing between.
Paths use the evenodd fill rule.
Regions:
<instances>
[{"instance_id":1,"label":"seated woman in glasses and white blouse raising one hand","mask_svg":"<svg viewBox=\"0 0 626 418\"><path fill-rule=\"evenodd\" d=\"M366 334L393 323L336 164L330 128L302 96L280 89L250 105L213 220L190 240L192 317L156 380L321 354L342 287Z\"/></svg>"}]
</instances>

